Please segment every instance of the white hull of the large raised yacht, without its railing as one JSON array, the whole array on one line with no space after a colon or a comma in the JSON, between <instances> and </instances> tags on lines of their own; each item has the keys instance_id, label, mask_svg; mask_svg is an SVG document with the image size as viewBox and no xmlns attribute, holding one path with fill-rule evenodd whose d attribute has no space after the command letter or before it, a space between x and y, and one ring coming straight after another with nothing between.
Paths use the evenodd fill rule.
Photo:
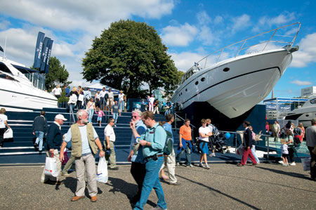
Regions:
<instances>
[{"instance_id":1,"label":"white hull of the large raised yacht, without its railing","mask_svg":"<svg viewBox=\"0 0 316 210\"><path fill-rule=\"evenodd\" d=\"M285 49L230 58L197 72L173 94L183 108L207 101L229 118L238 117L261 102L291 63Z\"/></svg>"}]
</instances>

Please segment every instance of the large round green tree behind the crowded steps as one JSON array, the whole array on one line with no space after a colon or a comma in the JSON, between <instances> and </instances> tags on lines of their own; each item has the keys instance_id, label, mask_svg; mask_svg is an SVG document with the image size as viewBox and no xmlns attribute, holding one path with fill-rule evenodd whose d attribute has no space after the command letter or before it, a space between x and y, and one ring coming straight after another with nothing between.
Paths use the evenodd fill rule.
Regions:
<instances>
[{"instance_id":1,"label":"large round green tree behind the crowded steps","mask_svg":"<svg viewBox=\"0 0 316 210\"><path fill-rule=\"evenodd\" d=\"M112 22L82 61L84 79L100 80L101 84L123 90L130 98L142 96L140 86L148 84L152 93L156 88L171 92L180 83L168 48L162 44L157 31L145 22L120 20Z\"/></svg>"}]
</instances>

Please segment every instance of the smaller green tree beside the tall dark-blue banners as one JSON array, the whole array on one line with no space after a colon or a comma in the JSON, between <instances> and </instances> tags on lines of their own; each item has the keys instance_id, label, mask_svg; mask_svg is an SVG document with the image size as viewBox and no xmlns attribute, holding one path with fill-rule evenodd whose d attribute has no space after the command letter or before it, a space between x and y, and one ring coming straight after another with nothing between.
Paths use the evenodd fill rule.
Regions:
<instances>
[{"instance_id":1,"label":"smaller green tree beside the tall dark-blue banners","mask_svg":"<svg viewBox=\"0 0 316 210\"><path fill-rule=\"evenodd\" d=\"M49 72L46 74L45 86L47 90L54 88L56 84L68 85L72 81L67 81L69 73L67 72L65 65L61 65L60 61L56 57L49 59Z\"/></svg>"}]
</instances>

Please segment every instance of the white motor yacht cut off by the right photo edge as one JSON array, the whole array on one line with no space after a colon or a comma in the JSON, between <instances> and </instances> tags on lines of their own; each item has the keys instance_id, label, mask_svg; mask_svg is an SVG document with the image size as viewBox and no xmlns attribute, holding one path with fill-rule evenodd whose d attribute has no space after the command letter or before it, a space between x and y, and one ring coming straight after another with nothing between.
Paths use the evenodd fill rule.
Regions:
<instances>
[{"instance_id":1,"label":"white motor yacht cut off by the right photo edge","mask_svg":"<svg viewBox=\"0 0 316 210\"><path fill-rule=\"evenodd\" d=\"M312 118L316 117L316 96L308 98L303 106L298 107L295 110L287 113L285 119L298 120L298 123L302 123L304 127L311 126Z\"/></svg>"}]
</instances>

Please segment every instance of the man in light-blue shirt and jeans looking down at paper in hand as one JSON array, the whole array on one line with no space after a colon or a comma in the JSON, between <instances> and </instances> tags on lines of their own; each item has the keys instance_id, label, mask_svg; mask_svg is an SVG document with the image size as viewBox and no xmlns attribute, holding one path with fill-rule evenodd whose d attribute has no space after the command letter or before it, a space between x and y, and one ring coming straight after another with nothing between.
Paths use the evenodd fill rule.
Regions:
<instances>
[{"instance_id":1,"label":"man in light-blue shirt and jeans looking down at paper in hand","mask_svg":"<svg viewBox=\"0 0 316 210\"><path fill-rule=\"evenodd\" d=\"M153 209L166 209L164 191L159 181L159 171L164 162L164 145L166 143L166 131L159 123L154 120L154 113L150 111L143 112L142 121L147 126L143 135L139 135L136 130L135 122L130 122L131 130L138 142L143 146L143 162L145 163L145 178L139 201L136 203L134 210L143 209L147 199L154 188L158 197L157 206Z\"/></svg>"}]
</instances>

